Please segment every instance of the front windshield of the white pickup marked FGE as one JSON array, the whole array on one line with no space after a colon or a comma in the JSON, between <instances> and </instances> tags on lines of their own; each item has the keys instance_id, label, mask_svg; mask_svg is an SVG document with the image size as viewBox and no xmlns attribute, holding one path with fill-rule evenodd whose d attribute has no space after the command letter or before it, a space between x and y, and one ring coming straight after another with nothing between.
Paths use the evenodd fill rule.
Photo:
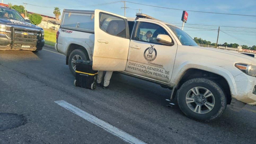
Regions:
<instances>
[{"instance_id":1,"label":"front windshield of the white pickup marked FGE","mask_svg":"<svg viewBox=\"0 0 256 144\"><path fill-rule=\"evenodd\" d=\"M167 25L173 33L176 35L176 37L179 39L180 43L183 46L198 46L196 42L183 30L177 28L176 26Z\"/></svg>"}]
</instances>

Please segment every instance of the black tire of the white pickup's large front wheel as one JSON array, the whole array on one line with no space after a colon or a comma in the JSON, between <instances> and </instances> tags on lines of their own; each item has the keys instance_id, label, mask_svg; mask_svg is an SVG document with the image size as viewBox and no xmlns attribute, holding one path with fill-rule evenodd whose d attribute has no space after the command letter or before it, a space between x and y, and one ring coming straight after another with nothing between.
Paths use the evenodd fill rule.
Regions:
<instances>
[{"instance_id":1,"label":"black tire of the white pickup's large front wheel","mask_svg":"<svg viewBox=\"0 0 256 144\"><path fill-rule=\"evenodd\" d=\"M198 91L200 91L200 92L198 92L200 94L198 94L197 96L195 96L195 94L191 91L191 89L196 88L196 87L198 87L197 89L198 89ZM203 88L205 88L205 91ZM205 98L203 96L203 94L201 94L201 92L206 93L206 91L207 91L206 89L209 90L210 93L212 93L212 95L208 98ZM192 95L191 95L191 93L192 93ZM208 94L210 94L210 93L208 92ZM187 99L186 97L188 97L189 95L192 96L189 98L194 99L194 100L191 100L193 102L186 100ZM200 95L201 95L201 97L200 97ZM222 113L224 112L224 110L227 107L227 98L226 98L222 88L217 83L215 83L213 80L206 79L206 78L194 78L194 79L188 80L187 82L182 84L182 86L179 88L177 96L178 96L178 105L180 107L180 110L189 118L194 119L199 122L210 122L210 121L218 118L220 115L222 115ZM198 97L198 98L196 99L196 97ZM206 104L205 104L206 102L208 102L209 98L210 98L210 101L214 101L214 106L210 107L211 110L208 107L206 107ZM199 102L199 99L200 99L200 102ZM208 99L208 100L206 100L206 99ZM203 104L201 103L202 101L204 101ZM187 102L189 104L187 104ZM196 107L197 105L201 105L201 106ZM192 110L193 106L195 107L194 110L196 112L194 112ZM204 108L204 111L206 111L206 113L202 112L203 108ZM200 112L198 109L200 109Z\"/></svg>"}]
</instances>

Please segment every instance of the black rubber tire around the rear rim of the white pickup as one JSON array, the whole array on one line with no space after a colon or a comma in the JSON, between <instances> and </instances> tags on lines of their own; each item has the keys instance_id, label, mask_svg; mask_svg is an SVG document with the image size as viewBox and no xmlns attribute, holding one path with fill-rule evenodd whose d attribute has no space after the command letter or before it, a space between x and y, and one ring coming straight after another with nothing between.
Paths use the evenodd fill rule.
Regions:
<instances>
[{"instance_id":1,"label":"black rubber tire around the rear rim of the white pickup","mask_svg":"<svg viewBox=\"0 0 256 144\"><path fill-rule=\"evenodd\" d=\"M76 71L73 69L73 66L72 66L72 58L75 56L75 55L78 55L80 56L80 58L82 60L88 60L89 58L86 56L85 52L83 52L82 50L80 49L75 49L73 50L70 55L69 55L69 58L68 58L68 67L69 67L69 70L70 72L75 76L76 75Z\"/></svg>"}]
</instances>

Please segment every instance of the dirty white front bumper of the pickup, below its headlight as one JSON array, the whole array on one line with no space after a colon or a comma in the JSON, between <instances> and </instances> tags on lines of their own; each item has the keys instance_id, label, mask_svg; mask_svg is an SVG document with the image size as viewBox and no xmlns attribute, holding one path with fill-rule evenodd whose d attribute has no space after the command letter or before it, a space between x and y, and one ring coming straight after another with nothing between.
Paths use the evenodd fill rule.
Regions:
<instances>
[{"instance_id":1,"label":"dirty white front bumper of the pickup, below its headlight","mask_svg":"<svg viewBox=\"0 0 256 144\"><path fill-rule=\"evenodd\" d=\"M245 73L237 75L234 78L237 86L237 95L232 95L232 98L248 105L256 105L256 95L254 94L256 78Z\"/></svg>"}]
</instances>

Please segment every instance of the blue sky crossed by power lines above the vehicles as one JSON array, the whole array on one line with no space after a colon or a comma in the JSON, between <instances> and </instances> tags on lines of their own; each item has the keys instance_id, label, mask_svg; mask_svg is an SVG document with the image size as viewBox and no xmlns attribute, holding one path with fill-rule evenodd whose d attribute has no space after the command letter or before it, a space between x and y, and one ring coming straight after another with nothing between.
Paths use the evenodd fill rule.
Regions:
<instances>
[{"instance_id":1,"label":"blue sky crossed by power lines above the vehicles","mask_svg":"<svg viewBox=\"0 0 256 144\"><path fill-rule=\"evenodd\" d=\"M80 9L80 10L95 10L100 9L116 13L118 15L124 15L124 3L114 3L104 6L95 6L87 8L77 8L77 6L88 6L93 4L109 3L116 0L3 0L3 3L12 3L20 5L26 4L27 11L41 13L49 16L54 16L54 8L47 7L60 7L61 14L64 8L66 9ZM127 0L129 2L142 3L147 5L154 5L160 7L176 8L192 11L206 11L217 13L234 13L242 15L256 15L256 0ZM176 26L181 26L182 10L170 10L164 8L144 6L134 3L126 2L126 16L135 17L137 9L142 9L142 13L155 17L156 19L167 21ZM32 6L38 5L38 6ZM42 7L44 6L44 7ZM73 7L73 8L68 8ZM237 16L237 15L222 15L213 13L201 13L201 12L188 12L188 21L184 25L184 31L188 33L192 38L202 38L212 43L217 41L217 29L220 25L220 34L218 43L237 43L239 45L253 46L256 45L256 16ZM195 25L200 24L200 25ZM205 25L201 25L205 24ZM206 26L208 25L208 26ZM216 26L209 26L216 25ZM240 28L225 27L225 26L239 26ZM193 28L191 28L193 27ZM245 28L246 27L246 28ZM248 28L250 27L250 28ZM179 27L181 28L181 27ZM225 33L224 33L225 32ZM227 35L227 34L228 35ZM236 34L235 34L236 33Z\"/></svg>"}]
</instances>

